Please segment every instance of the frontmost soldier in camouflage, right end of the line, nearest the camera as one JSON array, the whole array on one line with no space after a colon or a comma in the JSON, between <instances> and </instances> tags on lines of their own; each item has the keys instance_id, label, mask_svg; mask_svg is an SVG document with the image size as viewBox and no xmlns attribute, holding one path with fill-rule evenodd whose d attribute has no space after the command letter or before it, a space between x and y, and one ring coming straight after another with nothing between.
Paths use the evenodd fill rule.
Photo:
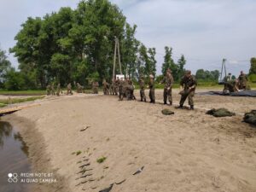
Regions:
<instances>
[{"instance_id":1,"label":"frontmost soldier in camouflage, right end of the line, nearest the camera","mask_svg":"<svg viewBox=\"0 0 256 192\"><path fill-rule=\"evenodd\" d=\"M183 104L186 101L187 97L189 97L189 105L190 109L194 110L194 101L193 96L195 96L195 87L197 83L195 78L191 75L191 71L186 71L185 75L181 79L180 82L180 95L181 99L179 102L179 108L183 108Z\"/></svg>"}]
</instances>

